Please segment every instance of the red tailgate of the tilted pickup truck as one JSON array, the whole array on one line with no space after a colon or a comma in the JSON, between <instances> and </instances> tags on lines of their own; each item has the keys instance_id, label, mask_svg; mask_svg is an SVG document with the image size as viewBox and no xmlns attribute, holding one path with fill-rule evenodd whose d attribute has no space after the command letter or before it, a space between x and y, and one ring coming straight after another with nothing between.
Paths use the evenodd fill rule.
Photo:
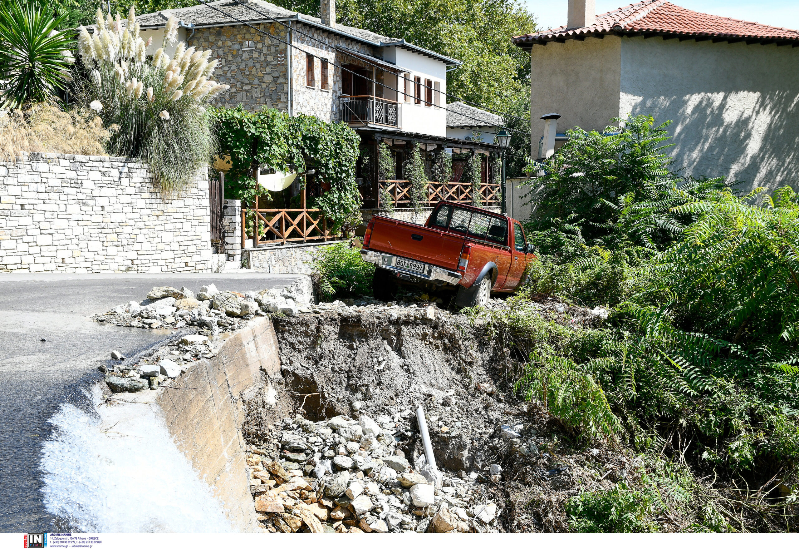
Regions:
<instances>
[{"instance_id":1,"label":"red tailgate of the tilted pickup truck","mask_svg":"<svg viewBox=\"0 0 799 549\"><path fill-rule=\"evenodd\" d=\"M369 249L458 269L463 237L406 221L376 217Z\"/></svg>"}]
</instances>

